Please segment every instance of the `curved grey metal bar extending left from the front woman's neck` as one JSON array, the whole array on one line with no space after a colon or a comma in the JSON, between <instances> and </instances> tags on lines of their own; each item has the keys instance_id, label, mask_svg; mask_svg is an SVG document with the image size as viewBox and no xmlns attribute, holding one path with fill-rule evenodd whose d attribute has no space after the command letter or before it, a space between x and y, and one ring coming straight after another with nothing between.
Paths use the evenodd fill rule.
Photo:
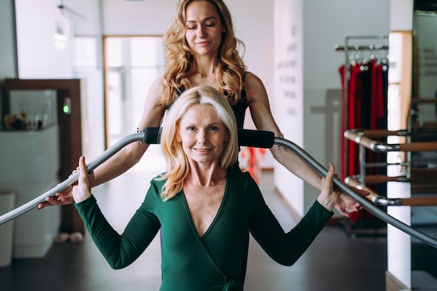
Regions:
<instances>
[{"instance_id":1,"label":"curved grey metal bar extending left from the front woman's neck","mask_svg":"<svg viewBox=\"0 0 437 291\"><path fill-rule=\"evenodd\" d=\"M127 146L129 143L132 143L133 141L146 140L145 139L146 134L147 132L145 131L145 132L138 132L136 134L131 134L124 137L124 139L121 139L120 141L115 143L114 146L111 146L110 148L108 148L108 150L105 150L101 155L99 155L96 159L94 159L93 162L89 163L88 171L89 172L93 171L95 168L103 164L103 162L105 162L107 159L112 157L112 155L114 155L116 152L121 150L121 148ZM28 212L29 210L34 209L36 206L38 206L39 203L44 202L45 198L52 197L54 196L54 194L57 194L58 192L70 187L72 184L74 184L77 181L77 178L79 178L79 173L76 173L70 178L64 180L64 182L57 184L57 186L53 187L52 189L45 191L45 193L34 198L33 200L30 200L28 203L25 203L20 207L17 207L12 211L3 214L0 217L0 225L12 219L15 219L16 217L19 217L20 215Z\"/></svg>"}]
</instances>

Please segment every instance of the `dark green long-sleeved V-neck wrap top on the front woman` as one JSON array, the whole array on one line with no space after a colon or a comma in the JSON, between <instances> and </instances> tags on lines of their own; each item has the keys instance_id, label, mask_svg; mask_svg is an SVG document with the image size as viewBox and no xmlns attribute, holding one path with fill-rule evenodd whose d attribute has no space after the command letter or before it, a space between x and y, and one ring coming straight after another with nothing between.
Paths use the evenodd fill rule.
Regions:
<instances>
[{"instance_id":1,"label":"dark green long-sleeved V-neck wrap top on the front woman","mask_svg":"<svg viewBox=\"0 0 437 291\"><path fill-rule=\"evenodd\" d=\"M122 235L103 217L94 196L75 204L96 246L114 269L135 261L161 229L161 291L242 290L248 231L273 260L292 265L333 214L316 201L302 221L285 233L251 175L228 169L221 206L200 237L183 191L170 200L161 199L164 182L151 180L144 202Z\"/></svg>"}]
</instances>

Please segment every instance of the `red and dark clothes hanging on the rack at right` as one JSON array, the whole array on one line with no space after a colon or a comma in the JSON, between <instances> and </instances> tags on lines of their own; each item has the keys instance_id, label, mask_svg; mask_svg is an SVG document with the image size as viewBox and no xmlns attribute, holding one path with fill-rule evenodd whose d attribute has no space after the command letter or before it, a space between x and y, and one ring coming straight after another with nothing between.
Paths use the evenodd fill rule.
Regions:
<instances>
[{"instance_id":1,"label":"red and dark clothes hanging on the rack at right","mask_svg":"<svg viewBox=\"0 0 437 291\"><path fill-rule=\"evenodd\" d=\"M339 68L339 74L343 92L342 132L347 129L387 129L387 65L373 58L370 61L343 64ZM347 80L345 80L346 76L348 76ZM343 180L360 173L359 155L360 146L341 135ZM386 162L386 157L385 154L366 150L365 162L366 164ZM385 175L385 173L385 168L366 169L366 175ZM369 185L382 195L386 193L384 186ZM362 219L369 220L371 217L366 210L349 215L349 219L355 223Z\"/></svg>"}]
</instances>

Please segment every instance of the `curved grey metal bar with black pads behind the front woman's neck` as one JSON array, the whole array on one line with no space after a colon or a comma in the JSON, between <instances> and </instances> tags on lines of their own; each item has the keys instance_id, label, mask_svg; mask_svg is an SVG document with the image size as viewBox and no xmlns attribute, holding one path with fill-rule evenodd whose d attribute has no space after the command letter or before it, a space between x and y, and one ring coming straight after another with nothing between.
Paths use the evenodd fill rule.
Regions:
<instances>
[{"instance_id":1,"label":"curved grey metal bar with black pads behind the front woman's neck","mask_svg":"<svg viewBox=\"0 0 437 291\"><path fill-rule=\"evenodd\" d=\"M96 159L90 162L88 164L88 171L93 171L95 168L103 164L103 162L105 162L107 159L112 157L112 155L121 150L121 148L124 148L129 143L133 143L134 141L140 141L141 143L145 142L148 144L159 143L160 133L161 131L158 127L147 127L143 132L138 132L136 134L131 134L124 137L124 139L121 139L120 141L115 143L114 146L111 146L110 148L108 148L108 150L105 150L101 155L99 155L98 157L96 157ZM316 159L311 157L311 155L309 155L295 143L292 143L291 141L288 141L281 137L275 137L273 132L239 129L238 140L239 146L250 146L254 148L272 148L272 146L274 146L275 144L278 146L284 146L289 150L292 150L292 152L295 152L296 155L303 159L304 162L309 164L309 166L311 166L311 168L319 173L319 175L327 175L327 169L319 164ZM0 217L0 225L12 219L15 219L16 217L19 217L26 212L29 212L30 210L34 209L39 203L45 201L45 198L52 197L54 196L54 194L57 194L67 187L70 187L77 181L78 177L79 173L76 173L70 178L57 184L57 186L53 187L52 189L46 191L40 196L34 198L33 200L30 200L28 203L25 203L24 205L21 205L20 207L17 207L12 211L3 214ZM337 189L341 190L344 194L350 196L358 203L360 203L364 207L364 209L369 211L375 217L378 217L386 223L391 224L395 228L398 228L404 233L407 233L411 237L415 237L416 239L419 239L420 241L429 244L430 246L434 246L434 248L437 248L437 239L434 239L434 237L430 237L429 235L426 235L419 230L416 230L415 228L411 228L406 223L403 223L402 221L399 221L398 219L395 219L389 214L383 212L383 210L374 205L370 200L363 196L360 196L359 194L356 194L353 189L348 187L346 184L343 184L343 182L341 182L339 178L334 178L334 186Z\"/></svg>"}]
</instances>

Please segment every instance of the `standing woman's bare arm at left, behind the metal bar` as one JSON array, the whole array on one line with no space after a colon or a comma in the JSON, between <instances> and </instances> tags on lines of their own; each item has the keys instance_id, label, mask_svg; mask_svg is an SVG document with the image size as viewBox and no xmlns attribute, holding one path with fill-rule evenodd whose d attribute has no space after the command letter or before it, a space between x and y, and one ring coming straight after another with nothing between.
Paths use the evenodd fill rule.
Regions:
<instances>
[{"instance_id":1,"label":"standing woman's bare arm at left, behind the metal bar","mask_svg":"<svg viewBox=\"0 0 437 291\"><path fill-rule=\"evenodd\" d=\"M165 111L165 108L158 103L162 95L162 84L163 78L161 77L156 79L151 85L145 101L142 118L138 124L140 130L146 127L158 127L161 124ZM94 170L94 180L90 181L91 187L103 184L128 171L129 168L132 168L140 161L148 147L148 144L135 142L121 149ZM71 203L73 203L73 197L71 195L71 187L69 187L61 193L57 193L54 197L46 198L44 203L38 205L38 209L47 205L66 205Z\"/></svg>"}]
</instances>

